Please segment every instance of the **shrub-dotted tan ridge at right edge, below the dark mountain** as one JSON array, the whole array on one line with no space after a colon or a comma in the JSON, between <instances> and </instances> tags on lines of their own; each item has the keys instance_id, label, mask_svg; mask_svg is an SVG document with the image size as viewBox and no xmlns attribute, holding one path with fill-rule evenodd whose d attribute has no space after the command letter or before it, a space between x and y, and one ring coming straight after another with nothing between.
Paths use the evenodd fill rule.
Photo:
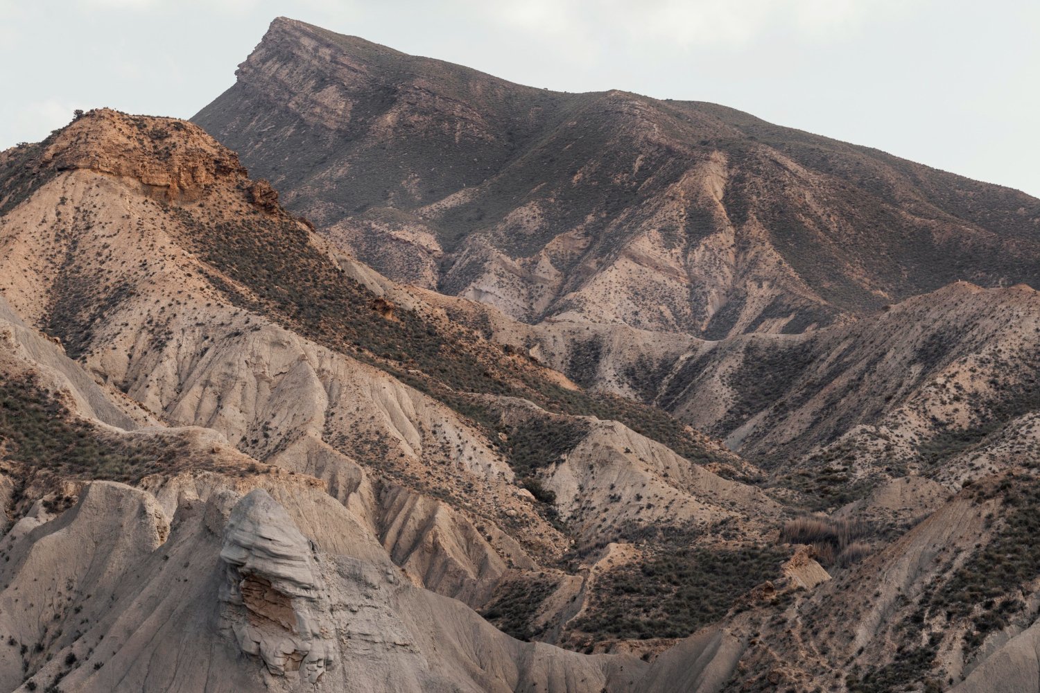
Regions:
<instances>
[{"instance_id":1,"label":"shrub-dotted tan ridge at right edge, below the dark mountain","mask_svg":"<svg viewBox=\"0 0 1040 693\"><path fill-rule=\"evenodd\" d=\"M753 458L856 439L927 468L1040 407L1038 329L1035 290L959 283L850 326L701 345L654 401Z\"/></svg>"}]
</instances>

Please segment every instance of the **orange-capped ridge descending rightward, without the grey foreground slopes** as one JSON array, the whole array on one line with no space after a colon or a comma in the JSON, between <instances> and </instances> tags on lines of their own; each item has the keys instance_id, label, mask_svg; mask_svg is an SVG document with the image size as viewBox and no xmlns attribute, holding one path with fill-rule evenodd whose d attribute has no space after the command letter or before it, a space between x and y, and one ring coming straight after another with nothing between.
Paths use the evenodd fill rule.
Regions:
<instances>
[{"instance_id":1,"label":"orange-capped ridge descending rightward, without the grey foreground slopes","mask_svg":"<svg viewBox=\"0 0 1040 693\"><path fill-rule=\"evenodd\" d=\"M0 293L25 325L142 422L215 431L246 471L318 479L416 586L475 609L540 586L545 598L519 616L540 610L551 625L520 635L565 638L596 597L582 566L605 543L696 524L710 551L724 523L756 544L785 512L716 475L748 473L718 442L590 395L341 259L196 126L90 111L4 156L22 177L0 192L12 204L0 217ZM512 417L517 402L534 416ZM571 456L597 462L590 449L612 453L612 492L634 499L649 484L675 512L633 504L586 527L552 488ZM183 484L204 495L205 482Z\"/></svg>"}]
</instances>

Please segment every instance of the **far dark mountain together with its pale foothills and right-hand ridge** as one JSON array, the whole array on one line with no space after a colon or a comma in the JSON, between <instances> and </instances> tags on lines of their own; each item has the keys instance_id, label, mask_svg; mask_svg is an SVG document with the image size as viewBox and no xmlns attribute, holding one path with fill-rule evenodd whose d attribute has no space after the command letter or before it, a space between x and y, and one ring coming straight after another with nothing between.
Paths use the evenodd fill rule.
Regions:
<instances>
[{"instance_id":1,"label":"far dark mountain together with its pale foothills and right-hand ridge","mask_svg":"<svg viewBox=\"0 0 1040 693\"><path fill-rule=\"evenodd\" d=\"M237 77L194 122L337 247L760 467L880 447L895 459L827 474L968 478L989 468L938 458L1037 407L1028 195L721 106L523 87L287 19Z\"/></svg>"}]
</instances>

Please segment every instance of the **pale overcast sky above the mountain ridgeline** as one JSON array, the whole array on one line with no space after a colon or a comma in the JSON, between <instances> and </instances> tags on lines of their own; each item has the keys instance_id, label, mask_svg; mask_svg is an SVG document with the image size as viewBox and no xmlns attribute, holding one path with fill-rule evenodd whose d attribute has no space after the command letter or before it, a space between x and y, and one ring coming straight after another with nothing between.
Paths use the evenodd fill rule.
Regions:
<instances>
[{"instance_id":1,"label":"pale overcast sky above the mountain ridgeline","mask_svg":"<svg viewBox=\"0 0 1040 693\"><path fill-rule=\"evenodd\" d=\"M0 0L0 149L190 117L286 16L567 91L711 101L1040 196L1040 1Z\"/></svg>"}]
</instances>

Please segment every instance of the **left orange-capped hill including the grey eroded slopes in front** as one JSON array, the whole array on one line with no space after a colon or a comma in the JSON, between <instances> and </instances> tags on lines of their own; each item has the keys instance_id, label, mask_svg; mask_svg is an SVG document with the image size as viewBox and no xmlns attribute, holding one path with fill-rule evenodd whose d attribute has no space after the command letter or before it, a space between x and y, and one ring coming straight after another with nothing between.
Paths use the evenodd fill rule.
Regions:
<instances>
[{"instance_id":1,"label":"left orange-capped hill including the grey eroded slopes in front","mask_svg":"<svg viewBox=\"0 0 1040 693\"><path fill-rule=\"evenodd\" d=\"M198 127L94 110L0 166L3 686L598 691L781 579L790 510L752 465L452 323ZM660 613L662 574L612 615L619 551L677 543L739 574ZM375 620L331 615L371 590ZM615 641L634 656L573 652Z\"/></svg>"}]
</instances>

